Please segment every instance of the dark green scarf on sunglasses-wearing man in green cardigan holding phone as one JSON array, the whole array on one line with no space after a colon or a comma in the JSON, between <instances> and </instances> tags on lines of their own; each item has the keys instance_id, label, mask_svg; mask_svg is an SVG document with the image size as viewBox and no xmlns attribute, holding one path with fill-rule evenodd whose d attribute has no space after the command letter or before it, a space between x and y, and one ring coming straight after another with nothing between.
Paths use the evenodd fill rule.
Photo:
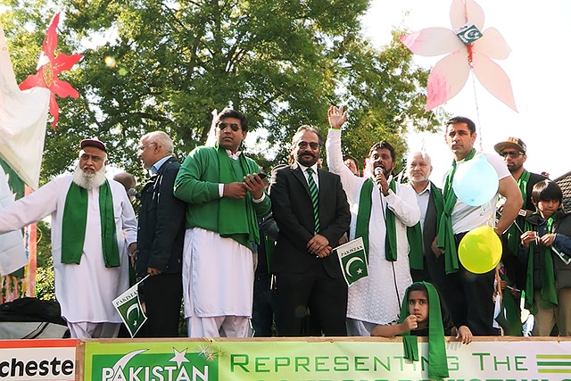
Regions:
<instances>
[{"instance_id":1,"label":"dark green scarf on sunglasses-wearing man in green cardigan holding phone","mask_svg":"<svg viewBox=\"0 0 571 381\"><path fill-rule=\"evenodd\" d=\"M238 156L240 172L236 172L236 166L230 162L224 148L218 147L219 182L230 184L244 182L244 176L252 173L244 153ZM245 212L244 212L245 211ZM260 243L260 231L258 219L252 205L252 195L247 193L245 198L237 199L222 197L219 200L219 235L234 239L237 243L252 248L252 242Z\"/></svg>"}]
</instances>

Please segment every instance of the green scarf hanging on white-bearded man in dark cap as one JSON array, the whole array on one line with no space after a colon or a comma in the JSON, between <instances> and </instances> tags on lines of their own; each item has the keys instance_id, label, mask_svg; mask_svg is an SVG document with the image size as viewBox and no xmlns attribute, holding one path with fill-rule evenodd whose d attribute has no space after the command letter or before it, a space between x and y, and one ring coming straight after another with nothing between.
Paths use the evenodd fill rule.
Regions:
<instances>
[{"instance_id":1,"label":"green scarf hanging on white-bearded man in dark cap","mask_svg":"<svg viewBox=\"0 0 571 381\"><path fill-rule=\"evenodd\" d=\"M87 189L71 181L65 198L62 218L62 263L79 264L87 231ZM103 262L106 268L119 267L119 244L113 215L113 198L109 181L99 186L99 214Z\"/></svg>"}]
</instances>

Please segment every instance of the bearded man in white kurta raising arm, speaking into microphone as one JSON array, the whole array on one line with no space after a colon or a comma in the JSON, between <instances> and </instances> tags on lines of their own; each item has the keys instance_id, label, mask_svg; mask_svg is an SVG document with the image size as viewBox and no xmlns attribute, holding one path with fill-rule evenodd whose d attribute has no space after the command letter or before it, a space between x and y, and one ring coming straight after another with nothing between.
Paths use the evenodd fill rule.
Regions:
<instances>
[{"instance_id":1,"label":"bearded man in white kurta raising arm, speaking into microphone","mask_svg":"<svg viewBox=\"0 0 571 381\"><path fill-rule=\"evenodd\" d=\"M352 211L350 239L363 238L368 254L368 277L349 288L347 333L368 336L379 324L398 319L402 297L412 283L407 227L420 219L416 196L410 186L397 184L393 146L381 141L368 153L368 173L363 178L343 164L341 126L347 120L343 107L327 112L327 164L338 174Z\"/></svg>"}]
</instances>

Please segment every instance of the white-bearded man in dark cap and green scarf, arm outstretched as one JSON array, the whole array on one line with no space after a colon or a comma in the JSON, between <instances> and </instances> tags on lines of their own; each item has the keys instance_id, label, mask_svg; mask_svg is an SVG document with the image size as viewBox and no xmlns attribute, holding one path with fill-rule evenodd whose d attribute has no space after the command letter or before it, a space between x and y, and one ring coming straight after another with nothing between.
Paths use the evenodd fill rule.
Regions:
<instances>
[{"instance_id":1,"label":"white-bearded man in dark cap and green scarf, arm outstretched","mask_svg":"<svg viewBox=\"0 0 571 381\"><path fill-rule=\"evenodd\" d=\"M105 178L107 153L97 139L81 141L73 175L54 178L0 211L0 233L52 218L55 297L71 337L116 337L112 300L128 289L128 251L137 221L120 183Z\"/></svg>"}]
</instances>

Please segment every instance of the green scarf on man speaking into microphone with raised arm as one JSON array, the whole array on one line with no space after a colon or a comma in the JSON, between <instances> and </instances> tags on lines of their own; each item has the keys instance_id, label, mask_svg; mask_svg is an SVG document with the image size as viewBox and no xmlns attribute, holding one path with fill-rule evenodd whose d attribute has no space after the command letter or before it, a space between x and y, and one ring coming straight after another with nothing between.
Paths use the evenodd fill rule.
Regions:
<instances>
[{"instance_id":1,"label":"green scarf on man speaking into microphone with raised arm","mask_svg":"<svg viewBox=\"0 0 571 381\"><path fill-rule=\"evenodd\" d=\"M368 224L371 219L371 207L373 206L373 180L368 178L360 187L359 210L357 211L357 222L355 226L355 237L363 238L365 254L368 258ZM396 183L392 178L389 189L396 193ZM394 213L387 206L385 210L385 259L386 261L396 261L396 225Z\"/></svg>"}]
</instances>

